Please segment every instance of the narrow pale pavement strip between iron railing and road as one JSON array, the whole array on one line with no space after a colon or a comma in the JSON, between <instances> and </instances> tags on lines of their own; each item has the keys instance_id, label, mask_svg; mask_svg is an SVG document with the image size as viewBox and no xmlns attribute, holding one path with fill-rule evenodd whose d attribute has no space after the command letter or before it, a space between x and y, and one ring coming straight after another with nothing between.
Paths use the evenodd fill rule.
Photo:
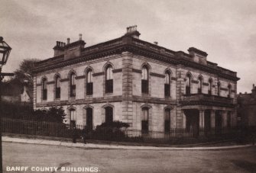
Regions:
<instances>
[{"instance_id":1,"label":"narrow pale pavement strip between iron railing and road","mask_svg":"<svg viewBox=\"0 0 256 173\"><path fill-rule=\"evenodd\" d=\"M47 146L67 146L83 149L133 149L133 150L216 150L216 149L238 149L253 146L234 145L234 146L196 146L196 147L158 147L158 146L121 146L96 143L69 143L50 139L25 139L18 137L2 136L2 142L5 143L30 143Z\"/></svg>"}]
</instances>

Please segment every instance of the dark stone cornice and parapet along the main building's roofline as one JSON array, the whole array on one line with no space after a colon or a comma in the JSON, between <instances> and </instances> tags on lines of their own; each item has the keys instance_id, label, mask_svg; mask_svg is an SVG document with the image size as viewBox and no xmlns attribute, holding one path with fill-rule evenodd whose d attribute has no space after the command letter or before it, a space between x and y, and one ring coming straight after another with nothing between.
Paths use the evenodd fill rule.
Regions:
<instances>
[{"instance_id":1,"label":"dark stone cornice and parapet along the main building's roofline","mask_svg":"<svg viewBox=\"0 0 256 173\"><path fill-rule=\"evenodd\" d=\"M164 49L164 51L163 51ZM111 56L114 54L121 54L122 52L131 52L134 54L146 56L147 58L156 59L162 62L167 62L173 65L183 65L189 66L194 69L203 70L205 72L213 73L219 75L222 78L228 78L233 81L238 81L239 78L236 77L236 73L228 69L223 69L219 66L206 66L193 62L193 59L190 55L183 52L174 52L172 50L167 50L164 47L160 47L151 43L147 43L143 40L138 40L135 38L118 38L111 40L109 42L100 43L96 46L90 46L83 50L83 54L73 59L67 59L56 62L47 63L44 60L44 63L39 62L41 66L37 66L34 69L34 73L44 72L49 69L61 68L63 66L70 66L79 62L86 62L92 59L99 59L103 56ZM210 63L209 63L210 64Z\"/></svg>"}]
</instances>

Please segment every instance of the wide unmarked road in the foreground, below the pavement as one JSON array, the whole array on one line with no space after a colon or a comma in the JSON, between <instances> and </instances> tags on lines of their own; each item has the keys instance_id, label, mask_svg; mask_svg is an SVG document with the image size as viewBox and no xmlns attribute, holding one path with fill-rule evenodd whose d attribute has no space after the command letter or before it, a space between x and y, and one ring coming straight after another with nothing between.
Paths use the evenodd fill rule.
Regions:
<instances>
[{"instance_id":1,"label":"wide unmarked road in the foreground, below the pavement","mask_svg":"<svg viewBox=\"0 0 256 173\"><path fill-rule=\"evenodd\" d=\"M22 143L3 143L2 146L5 172L68 172L61 171L61 167L83 168L80 172L86 172L86 168L87 172L88 168L92 172L256 172L256 147L154 151L79 149ZM11 166L28 166L28 171L6 171ZM31 171L31 168L50 167L59 169Z\"/></svg>"}]
</instances>

